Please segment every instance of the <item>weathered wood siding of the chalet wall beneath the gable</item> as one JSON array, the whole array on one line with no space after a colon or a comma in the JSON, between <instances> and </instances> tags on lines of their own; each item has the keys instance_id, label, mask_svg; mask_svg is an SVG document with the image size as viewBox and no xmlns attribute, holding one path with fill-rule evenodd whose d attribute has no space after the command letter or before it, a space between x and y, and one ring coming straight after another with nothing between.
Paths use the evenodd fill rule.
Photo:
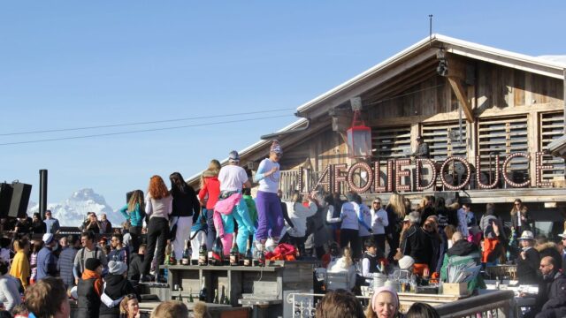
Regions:
<instances>
[{"instance_id":1,"label":"weathered wood siding of the chalet wall beneath the gable","mask_svg":"<svg viewBox=\"0 0 566 318\"><path fill-rule=\"evenodd\" d=\"M427 68L419 68L423 74L400 75L404 79L391 79L394 85L374 87L363 95L363 116L372 128L373 160L383 163L387 158L408 156L416 148L414 140L418 134L429 143L434 159L463 155L472 165L476 155L482 155L484 165L489 153L497 152L503 157L517 151L534 153L562 136L561 79L452 57L450 74L463 82L474 116L471 123L463 117L460 140L459 102L447 79L431 73L430 63L427 64ZM409 81L411 86L399 88L403 81ZM520 118L520 123L516 118ZM498 126L500 122L503 128ZM518 132L520 127L513 128L516 125L524 127ZM330 125L287 148L281 161L284 170L308 167L314 171L322 171L333 163L352 162L342 136L333 132ZM511 170L526 171L525 163L516 160ZM534 167L534 156L528 163ZM545 157L545 163L554 164L555 169L547 171L544 178L558 186L557 181L564 179L564 161ZM534 183L534 171L531 169L531 176L524 178L531 178Z\"/></svg>"}]
</instances>

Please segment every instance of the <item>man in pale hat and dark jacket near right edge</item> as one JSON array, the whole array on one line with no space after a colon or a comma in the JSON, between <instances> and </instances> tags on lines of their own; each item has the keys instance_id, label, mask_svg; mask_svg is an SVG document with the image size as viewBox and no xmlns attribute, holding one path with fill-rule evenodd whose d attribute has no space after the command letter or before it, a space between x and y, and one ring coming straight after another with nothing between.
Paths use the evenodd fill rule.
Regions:
<instances>
[{"instance_id":1,"label":"man in pale hat and dark jacket near right edge","mask_svg":"<svg viewBox=\"0 0 566 318\"><path fill-rule=\"evenodd\" d=\"M539 269L539 251L534 248L532 231L523 231L519 238L521 254L516 259L516 276L519 284L539 284L537 269Z\"/></svg>"}]
</instances>

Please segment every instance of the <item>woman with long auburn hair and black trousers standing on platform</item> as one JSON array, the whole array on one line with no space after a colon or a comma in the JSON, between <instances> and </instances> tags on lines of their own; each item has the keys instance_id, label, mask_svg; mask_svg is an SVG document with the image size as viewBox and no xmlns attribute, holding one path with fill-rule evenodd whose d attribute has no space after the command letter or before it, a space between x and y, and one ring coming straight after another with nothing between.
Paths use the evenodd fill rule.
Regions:
<instances>
[{"instance_id":1,"label":"woman with long auburn hair and black trousers standing on platform","mask_svg":"<svg viewBox=\"0 0 566 318\"><path fill-rule=\"evenodd\" d=\"M149 179L148 195L145 212L149 216L148 249L143 260L141 281L148 281L149 269L154 255L157 266L164 263L165 245L169 239L169 216L172 213L172 195L167 190L163 178L153 176ZM157 246L157 252L156 252ZM159 269L156 271L156 281L159 281Z\"/></svg>"}]
</instances>

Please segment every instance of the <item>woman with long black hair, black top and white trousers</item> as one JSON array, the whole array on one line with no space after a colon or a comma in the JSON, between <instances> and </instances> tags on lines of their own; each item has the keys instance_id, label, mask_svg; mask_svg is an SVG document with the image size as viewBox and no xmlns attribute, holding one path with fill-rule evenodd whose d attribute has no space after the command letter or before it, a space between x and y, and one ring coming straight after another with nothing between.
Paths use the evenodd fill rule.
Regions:
<instances>
[{"instance_id":1,"label":"woman with long black hair, black top and white trousers","mask_svg":"<svg viewBox=\"0 0 566 318\"><path fill-rule=\"evenodd\" d=\"M169 176L171 180L171 194L173 197L171 227L177 227L172 235L173 253L175 259L183 258L185 242L189 239L191 226L195 223L201 211L201 204L196 198L195 189L188 186L187 182L179 172L173 172Z\"/></svg>"}]
</instances>

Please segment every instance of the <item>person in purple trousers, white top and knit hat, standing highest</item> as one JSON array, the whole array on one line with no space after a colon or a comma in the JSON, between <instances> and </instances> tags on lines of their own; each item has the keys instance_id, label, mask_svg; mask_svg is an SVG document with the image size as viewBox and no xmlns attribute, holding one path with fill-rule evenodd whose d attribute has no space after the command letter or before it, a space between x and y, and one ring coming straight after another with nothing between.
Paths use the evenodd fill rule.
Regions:
<instances>
[{"instance_id":1,"label":"person in purple trousers, white top and knit hat, standing highest","mask_svg":"<svg viewBox=\"0 0 566 318\"><path fill-rule=\"evenodd\" d=\"M257 231L256 239L263 246L268 236L277 242L281 230L285 225L283 211L277 196L279 190L279 160L283 155L283 149L278 140L273 140L269 151L269 158L265 158L257 167L254 181L259 183L256 196L257 207ZM268 227L271 225L271 229Z\"/></svg>"}]
</instances>

